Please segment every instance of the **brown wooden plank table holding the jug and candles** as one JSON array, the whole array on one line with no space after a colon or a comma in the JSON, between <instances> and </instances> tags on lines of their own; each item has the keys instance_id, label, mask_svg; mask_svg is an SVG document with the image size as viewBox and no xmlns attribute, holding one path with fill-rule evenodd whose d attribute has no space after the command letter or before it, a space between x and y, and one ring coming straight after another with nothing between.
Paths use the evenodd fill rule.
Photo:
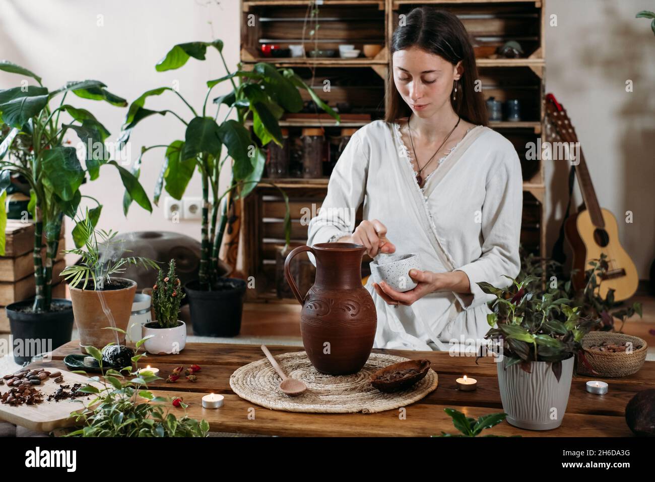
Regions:
<instances>
[{"instance_id":1,"label":"brown wooden plank table holding the jug and candles","mask_svg":"<svg viewBox=\"0 0 655 482\"><path fill-rule=\"evenodd\" d=\"M288 351L299 351L295 346L269 346L273 355ZM406 418L399 417L399 410L375 414L310 414L282 412L265 409L250 401L241 399L229 386L230 375L246 363L264 357L259 345L188 343L178 355L148 355L141 360L160 369L159 375L166 378L172 370L191 363L202 367L195 383L178 380L167 384L157 380L149 386L157 395L182 396L189 404L187 413L198 420L204 418L213 432L255 433L261 435L285 436L375 436L404 435L426 437L440 435L441 431L457 433L452 420L443 411L455 408L467 416L502 412L496 364L489 357L481 358L476 365L475 357L451 357L445 351L373 350L408 358L427 358L432 369L439 374L439 386L424 399L405 407ZM51 361L32 363L35 367L51 366L66 370L65 355L79 353L77 341L69 342L52 353ZM466 374L477 379L474 392L460 392L455 379ZM655 362L646 361L642 369L625 378L607 380L610 384L607 395L592 395L586 392L585 383L591 380L576 376L571 384L569 405L562 425L555 430L536 432L521 430L502 422L484 433L495 435L523 435L523 437L620 437L632 432L624 418L625 407L635 393L646 388L655 388ZM202 395L221 393L225 403L221 409L202 408ZM255 418L248 418L254 409ZM183 409L173 409L183 414Z\"/></svg>"}]
</instances>

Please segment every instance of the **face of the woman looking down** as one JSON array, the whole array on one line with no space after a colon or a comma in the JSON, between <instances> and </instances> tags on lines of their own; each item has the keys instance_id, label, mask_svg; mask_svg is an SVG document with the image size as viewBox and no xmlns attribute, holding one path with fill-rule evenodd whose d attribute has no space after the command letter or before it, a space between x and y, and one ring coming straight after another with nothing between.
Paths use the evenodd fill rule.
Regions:
<instances>
[{"instance_id":1,"label":"face of the woman looking down","mask_svg":"<svg viewBox=\"0 0 655 482\"><path fill-rule=\"evenodd\" d=\"M439 111L453 94L453 81L460 78L457 66L418 47L396 50L394 82L403 100L419 117Z\"/></svg>"}]
</instances>

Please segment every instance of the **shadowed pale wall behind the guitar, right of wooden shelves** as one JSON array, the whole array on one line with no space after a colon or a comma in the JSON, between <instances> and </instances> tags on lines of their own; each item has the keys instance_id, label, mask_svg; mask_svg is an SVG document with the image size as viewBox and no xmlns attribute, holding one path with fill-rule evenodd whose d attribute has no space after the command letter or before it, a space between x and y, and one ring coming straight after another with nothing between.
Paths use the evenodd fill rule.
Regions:
<instances>
[{"instance_id":1,"label":"shadowed pale wall behind the guitar, right of wooden shelves","mask_svg":"<svg viewBox=\"0 0 655 482\"><path fill-rule=\"evenodd\" d=\"M655 35L651 0L546 0L546 92L569 113L601 207L617 218L620 241L641 279L655 258ZM626 81L633 92L626 92ZM557 239L568 167L546 165L548 247ZM575 199L581 201L576 181ZM633 223L626 224L626 211ZM569 258L570 260L571 258Z\"/></svg>"}]
</instances>

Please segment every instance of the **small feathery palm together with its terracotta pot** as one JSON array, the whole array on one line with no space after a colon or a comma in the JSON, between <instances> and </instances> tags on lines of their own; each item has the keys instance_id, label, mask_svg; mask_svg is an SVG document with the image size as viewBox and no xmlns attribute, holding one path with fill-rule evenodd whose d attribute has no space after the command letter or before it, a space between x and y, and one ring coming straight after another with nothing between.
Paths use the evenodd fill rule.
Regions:
<instances>
[{"instance_id":1,"label":"small feathery palm together with its terracotta pot","mask_svg":"<svg viewBox=\"0 0 655 482\"><path fill-rule=\"evenodd\" d=\"M105 346L110 342L122 345L125 342L124 332L132 313L136 283L115 275L122 273L128 264L159 269L157 262L149 258L117 257L115 253L123 252L115 246L120 243L115 240L118 233L96 230L94 226L87 209L84 219L75 226L85 239L84 249L65 251L81 256L81 262L62 271L62 276L69 281L75 323L83 350L87 346ZM98 243L98 238L102 245ZM113 333L105 330L105 327L115 327L121 331Z\"/></svg>"}]
</instances>

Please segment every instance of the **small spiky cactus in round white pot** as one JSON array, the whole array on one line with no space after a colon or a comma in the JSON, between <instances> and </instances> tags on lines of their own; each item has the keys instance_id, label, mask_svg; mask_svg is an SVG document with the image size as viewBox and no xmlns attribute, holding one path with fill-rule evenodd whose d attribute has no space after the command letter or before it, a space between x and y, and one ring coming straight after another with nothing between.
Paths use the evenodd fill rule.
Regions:
<instances>
[{"instance_id":1,"label":"small spiky cactus in round white pot","mask_svg":"<svg viewBox=\"0 0 655 482\"><path fill-rule=\"evenodd\" d=\"M175 260L170 260L168 273L159 270L157 284L153 286L155 319L143 325L145 351L155 355L168 355L184 350L187 343L187 325L178 319L179 304L184 296L175 273Z\"/></svg>"}]
</instances>

